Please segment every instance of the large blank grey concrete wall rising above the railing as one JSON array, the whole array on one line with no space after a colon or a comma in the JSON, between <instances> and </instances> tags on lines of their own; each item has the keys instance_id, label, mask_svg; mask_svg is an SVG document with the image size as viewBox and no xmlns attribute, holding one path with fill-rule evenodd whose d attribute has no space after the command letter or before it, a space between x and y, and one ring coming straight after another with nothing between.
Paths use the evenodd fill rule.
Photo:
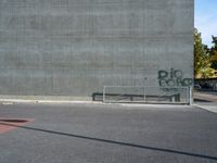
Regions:
<instances>
[{"instance_id":1,"label":"large blank grey concrete wall rising above the railing","mask_svg":"<svg viewBox=\"0 0 217 163\"><path fill-rule=\"evenodd\" d=\"M1 0L0 95L90 97L104 85L142 86L144 78L146 86L167 85L163 71L191 79L193 5Z\"/></svg>"}]
</instances>

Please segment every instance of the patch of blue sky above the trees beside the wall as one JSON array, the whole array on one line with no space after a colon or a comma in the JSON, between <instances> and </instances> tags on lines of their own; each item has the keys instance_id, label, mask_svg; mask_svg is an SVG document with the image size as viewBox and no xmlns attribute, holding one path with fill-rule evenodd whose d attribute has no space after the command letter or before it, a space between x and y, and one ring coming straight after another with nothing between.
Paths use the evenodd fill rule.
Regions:
<instances>
[{"instance_id":1,"label":"patch of blue sky above the trees beside the wall","mask_svg":"<svg viewBox=\"0 0 217 163\"><path fill-rule=\"evenodd\" d=\"M202 33L203 43L212 45L212 35L217 37L217 0L195 0L194 27Z\"/></svg>"}]
</instances>

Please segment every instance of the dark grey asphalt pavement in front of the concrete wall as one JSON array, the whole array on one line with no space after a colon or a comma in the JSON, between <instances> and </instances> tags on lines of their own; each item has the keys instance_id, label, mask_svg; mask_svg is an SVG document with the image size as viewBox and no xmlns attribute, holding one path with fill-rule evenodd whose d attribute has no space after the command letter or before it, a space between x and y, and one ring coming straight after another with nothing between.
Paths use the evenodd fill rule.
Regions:
<instances>
[{"instance_id":1,"label":"dark grey asphalt pavement in front of the concrete wall","mask_svg":"<svg viewBox=\"0 0 217 163\"><path fill-rule=\"evenodd\" d=\"M217 114L196 106L8 103L0 125L0 163L217 162Z\"/></svg>"}]
</instances>

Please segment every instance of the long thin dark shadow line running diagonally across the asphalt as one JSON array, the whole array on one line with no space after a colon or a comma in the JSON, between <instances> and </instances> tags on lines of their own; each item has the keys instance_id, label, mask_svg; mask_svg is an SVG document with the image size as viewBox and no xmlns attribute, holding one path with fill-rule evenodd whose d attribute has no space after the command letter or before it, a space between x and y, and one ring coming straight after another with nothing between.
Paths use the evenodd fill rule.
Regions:
<instances>
[{"instance_id":1,"label":"long thin dark shadow line running diagonally across the asphalt","mask_svg":"<svg viewBox=\"0 0 217 163\"><path fill-rule=\"evenodd\" d=\"M120 145L120 146L126 146L126 147L135 147L135 148L140 148L140 149L145 149L145 150L153 150L153 151L158 151L158 152L175 153L175 154L181 154L181 155L195 156L195 158L209 159L209 160L217 161L216 156L203 155L203 154L197 154L197 153L190 153L190 152L183 152L183 151L170 150L170 149L164 149L164 148L155 148L155 147L150 147L150 146L142 146L142 145L123 142L123 141L106 140L106 139L101 139L101 138L94 138L94 137L88 137L88 136L80 136L80 135L74 135L74 134L67 134L67 133L61 133L61 131L48 130L48 129L41 129L41 128L17 126L17 125L2 123L2 122L0 122L0 124L1 125L8 125L8 126L14 126L14 127L17 127L17 128L24 128L24 129L29 129L29 130L36 130L36 131L41 131L41 133L53 134L53 135L61 135L61 136L79 138L79 139L101 141L101 142L105 142L105 143Z\"/></svg>"}]
</instances>

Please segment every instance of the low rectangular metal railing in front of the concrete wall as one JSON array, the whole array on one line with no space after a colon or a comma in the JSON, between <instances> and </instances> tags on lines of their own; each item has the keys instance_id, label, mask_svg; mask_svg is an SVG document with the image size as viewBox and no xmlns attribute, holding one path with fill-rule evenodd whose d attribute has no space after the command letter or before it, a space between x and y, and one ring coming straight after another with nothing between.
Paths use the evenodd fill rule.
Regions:
<instances>
[{"instance_id":1,"label":"low rectangular metal railing in front of the concrete wall","mask_svg":"<svg viewBox=\"0 0 217 163\"><path fill-rule=\"evenodd\" d=\"M104 86L105 103L191 103L190 87Z\"/></svg>"}]
</instances>

